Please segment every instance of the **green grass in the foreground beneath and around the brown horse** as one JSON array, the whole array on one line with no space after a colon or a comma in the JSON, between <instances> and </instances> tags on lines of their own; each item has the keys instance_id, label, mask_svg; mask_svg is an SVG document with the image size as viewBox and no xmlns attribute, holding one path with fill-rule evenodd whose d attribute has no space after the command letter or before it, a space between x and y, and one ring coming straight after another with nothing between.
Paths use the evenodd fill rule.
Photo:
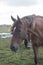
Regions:
<instances>
[{"instance_id":1,"label":"green grass in the foreground beneath and around the brown horse","mask_svg":"<svg viewBox=\"0 0 43 65\"><path fill-rule=\"evenodd\" d=\"M39 49L39 65L43 65L43 48ZM27 50L24 44L15 53L10 50L10 39L0 39L0 65L34 65L33 50Z\"/></svg>"}]
</instances>

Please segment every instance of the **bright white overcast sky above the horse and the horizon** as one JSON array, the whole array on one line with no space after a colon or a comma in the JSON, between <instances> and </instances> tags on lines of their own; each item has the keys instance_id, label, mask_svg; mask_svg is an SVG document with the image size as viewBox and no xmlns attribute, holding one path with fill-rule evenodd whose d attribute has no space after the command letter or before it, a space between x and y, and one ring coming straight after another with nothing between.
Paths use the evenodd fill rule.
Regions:
<instances>
[{"instance_id":1,"label":"bright white overcast sky above the horse and the horizon","mask_svg":"<svg viewBox=\"0 0 43 65\"><path fill-rule=\"evenodd\" d=\"M0 24L12 24L11 15L32 14L43 16L43 0L0 0Z\"/></svg>"}]
</instances>

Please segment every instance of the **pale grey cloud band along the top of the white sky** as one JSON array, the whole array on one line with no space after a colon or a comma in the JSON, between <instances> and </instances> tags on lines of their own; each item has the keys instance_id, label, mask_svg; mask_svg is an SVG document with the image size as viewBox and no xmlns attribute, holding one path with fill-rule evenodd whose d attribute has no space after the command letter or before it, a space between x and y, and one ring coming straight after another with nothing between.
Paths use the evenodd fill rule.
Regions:
<instances>
[{"instance_id":1,"label":"pale grey cloud band along the top of the white sky","mask_svg":"<svg viewBox=\"0 0 43 65\"><path fill-rule=\"evenodd\" d=\"M37 0L0 0L10 6L29 6L37 4Z\"/></svg>"}]
</instances>

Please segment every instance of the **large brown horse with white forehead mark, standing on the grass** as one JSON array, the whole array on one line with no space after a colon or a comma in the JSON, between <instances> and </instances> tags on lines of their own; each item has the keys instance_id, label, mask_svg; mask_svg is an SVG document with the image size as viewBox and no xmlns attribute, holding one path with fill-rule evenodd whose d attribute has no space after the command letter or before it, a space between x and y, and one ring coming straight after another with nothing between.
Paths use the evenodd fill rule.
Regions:
<instances>
[{"instance_id":1,"label":"large brown horse with white forehead mark, standing on the grass","mask_svg":"<svg viewBox=\"0 0 43 65\"><path fill-rule=\"evenodd\" d=\"M13 19L14 20L14 19ZM30 15L23 18L17 16L11 39L11 49L16 51L23 40L31 39L34 50L35 65L38 64L38 47L43 46L43 17Z\"/></svg>"}]
</instances>

